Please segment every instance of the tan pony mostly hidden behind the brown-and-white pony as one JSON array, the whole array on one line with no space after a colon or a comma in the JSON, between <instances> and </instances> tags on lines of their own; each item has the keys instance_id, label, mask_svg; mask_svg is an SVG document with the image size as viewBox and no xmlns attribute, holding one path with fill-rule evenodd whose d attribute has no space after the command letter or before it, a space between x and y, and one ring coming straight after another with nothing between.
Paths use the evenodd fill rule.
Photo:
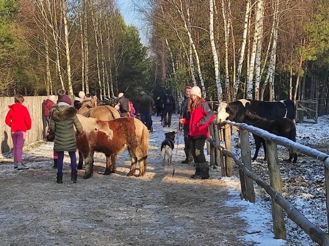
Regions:
<instances>
[{"instance_id":1,"label":"tan pony mostly hidden behind the brown-and-white pony","mask_svg":"<svg viewBox=\"0 0 329 246\"><path fill-rule=\"evenodd\" d=\"M82 101L81 108L78 113L85 117L92 117L101 121L108 121L120 118L120 113L114 107L111 106L96 106L96 97L95 98L86 98ZM113 156L115 159L115 155ZM79 163L78 169L82 169L83 166L83 157L79 152Z\"/></svg>"}]
</instances>

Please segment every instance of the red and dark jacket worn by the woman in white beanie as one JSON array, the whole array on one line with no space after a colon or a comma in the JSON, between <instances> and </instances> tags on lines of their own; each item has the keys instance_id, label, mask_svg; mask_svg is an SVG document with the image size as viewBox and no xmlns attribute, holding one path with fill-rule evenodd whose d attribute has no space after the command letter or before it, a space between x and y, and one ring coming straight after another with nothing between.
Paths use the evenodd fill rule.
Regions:
<instances>
[{"instance_id":1,"label":"red and dark jacket worn by the woman in white beanie","mask_svg":"<svg viewBox=\"0 0 329 246\"><path fill-rule=\"evenodd\" d=\"M190 136L193 137L207 137L209 138L208 125L215 118L213 111L209 105L202 100L199 107L192 109L190 119L185 119L184 124L190 127Z\"/></svg>"}]
</instances>

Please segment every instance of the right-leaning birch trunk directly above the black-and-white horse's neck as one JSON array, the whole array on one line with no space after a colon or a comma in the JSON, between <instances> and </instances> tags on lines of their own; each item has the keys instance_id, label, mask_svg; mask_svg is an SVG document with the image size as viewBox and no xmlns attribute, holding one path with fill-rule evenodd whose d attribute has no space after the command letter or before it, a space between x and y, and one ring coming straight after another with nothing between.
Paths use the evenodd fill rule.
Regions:
<instances>
[{"instance_id":1,"label":"right-leaning birch trunk directly above the black-and-white horse's neck","mask_svg":"<svg viewBox=\"0 0 329 246\"><path fill-rule=\"evenodd\" d=\"M245 12L245 21L244 21L244 27L243 27L243 35L242 35L242 43L241 43L241 49L240 49L240 56L239 56L239 63L237 64L237 71L236 71L236 82L233 86L233 93L232 93L232 100L236 100L237 90L239 89L239 85L241 83L241 71L242 71L242 65L245 57L245 49L246 49L246 43L247 43L247 34L249 29L249 16L250 16L250 0L247 0L246 2L246 12ZM249 61L249 59L248 59ZM248 70L248 68L247 68Z\"/></svg>"}]
</instances>

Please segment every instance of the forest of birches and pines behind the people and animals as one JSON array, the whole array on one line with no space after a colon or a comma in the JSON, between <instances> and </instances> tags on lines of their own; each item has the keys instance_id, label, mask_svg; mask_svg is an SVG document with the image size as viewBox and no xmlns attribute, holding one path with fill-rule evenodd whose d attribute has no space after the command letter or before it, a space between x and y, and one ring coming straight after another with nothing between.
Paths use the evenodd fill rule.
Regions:
<instances>
[{"instance_id":1,"label":"forest of birches and pines behind the people and animals","mask_svg":"<svg viewBox=\"0 0 329 246\"><path fill-rule=\"evenodd\" d=\"M328 113L329 0L0 0L0 96L97 94L193 82L208 101L316 99Z\"/></svg>"}]
</instances>

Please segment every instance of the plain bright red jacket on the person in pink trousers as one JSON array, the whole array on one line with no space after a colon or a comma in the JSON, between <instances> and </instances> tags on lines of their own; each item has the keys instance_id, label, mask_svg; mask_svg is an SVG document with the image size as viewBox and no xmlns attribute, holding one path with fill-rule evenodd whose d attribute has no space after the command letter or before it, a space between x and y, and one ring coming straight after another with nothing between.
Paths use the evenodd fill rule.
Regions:
<instances>
[{"instance_id":1,"label":"plain bright red jacket on the person in pink trousers","mask_svg":"<svg viewBox=\"0 0 329 246\"><path fill-rule=\"evenodd\" d=\"M6 124L11 127L13 131L25 131L31 129L31 117L27 108L20 104L15 103L9 105L9 111L6 116Z\"/></svg>"}]
</instances>

